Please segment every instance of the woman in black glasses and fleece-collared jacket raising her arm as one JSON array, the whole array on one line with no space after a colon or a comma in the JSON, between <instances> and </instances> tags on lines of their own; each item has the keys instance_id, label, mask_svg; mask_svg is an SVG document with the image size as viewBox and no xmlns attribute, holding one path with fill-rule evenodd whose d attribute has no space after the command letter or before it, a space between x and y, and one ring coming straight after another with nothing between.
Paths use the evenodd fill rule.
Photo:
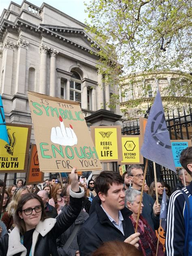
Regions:
<instances>
[{"instance_id":1,"label":"woman in black glasses and fleece-collared jacket raising her arm","mask_svg":"<svg viewBox=\"0 0 192 256\"><path fill-rule=\"evenodd\" d=\"M56 239L75 222L81 211L84 191L73 168L70 174L70 203L56 219L45 219L43 201L37 194L23 196L15 213L15 228L0 239L0 255L58 256Z\"/></svg>"}]
</instances>

